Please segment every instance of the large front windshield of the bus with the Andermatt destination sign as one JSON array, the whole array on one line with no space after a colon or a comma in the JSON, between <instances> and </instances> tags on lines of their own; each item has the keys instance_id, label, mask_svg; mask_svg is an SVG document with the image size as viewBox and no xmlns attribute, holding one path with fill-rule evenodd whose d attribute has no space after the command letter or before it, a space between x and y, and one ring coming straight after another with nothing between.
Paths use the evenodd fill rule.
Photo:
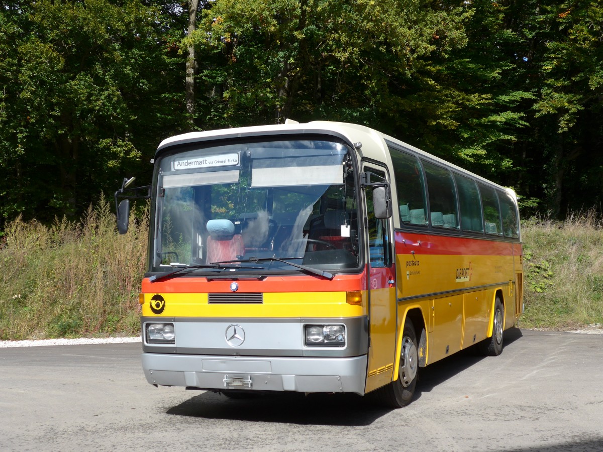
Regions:
<instances>
[{"instance_id":1,"label":"large front windshield of the bus with the Andermatt destination sign","mask_svg":"<svg viewBox=\"0 0 603 452\"><path fill-rule=\"evenodd\" d=\"M159 162L151 271L329 271L359 266L349 148L325 140L231 144ZM216 262L245 261L227 268ZM188 272L187 272L188 274Z\"/></svg>"}]
</instances>

